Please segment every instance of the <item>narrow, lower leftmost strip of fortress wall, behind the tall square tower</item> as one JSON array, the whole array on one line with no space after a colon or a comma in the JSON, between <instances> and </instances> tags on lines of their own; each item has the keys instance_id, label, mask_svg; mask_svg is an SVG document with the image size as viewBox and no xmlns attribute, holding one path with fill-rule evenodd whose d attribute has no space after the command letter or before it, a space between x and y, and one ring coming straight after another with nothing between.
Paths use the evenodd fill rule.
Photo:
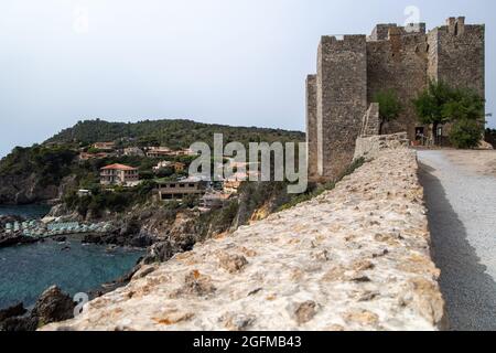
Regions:
<instances>
[{"instance_id":1,"label":"narrow, lower leftmost strip of fortress wall, behind the tall square tower","mask_svg":"<svg viewBox=\"0 0 496 353\"><path fill-rule=\"evenodd\" d=\"M306 77L306 143L309 180L317 178L316 75Z\"/></svg>"}]
</instances>

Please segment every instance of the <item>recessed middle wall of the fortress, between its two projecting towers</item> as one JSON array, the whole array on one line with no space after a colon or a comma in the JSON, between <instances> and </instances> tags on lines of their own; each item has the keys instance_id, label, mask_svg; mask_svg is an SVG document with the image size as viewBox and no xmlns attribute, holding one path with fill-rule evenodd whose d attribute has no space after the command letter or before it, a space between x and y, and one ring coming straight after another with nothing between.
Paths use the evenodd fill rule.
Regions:
<instances>
[{"instance_id":1,"label":"recessed middle wall of the fortress, between its two projecting towers","mask_svg":"<svg viewBox=\"0 0 496 353\"><path fill-rule=\"evenodd\" d=\"M423 31L407 33L390 28L387 40L367 42L367 99L384 89L393 89L403 104L400 117L384 127L384 133L408 131L414 139L417 114L412 99L428 82L428 43Z\"/></svg>"}]
</instances>

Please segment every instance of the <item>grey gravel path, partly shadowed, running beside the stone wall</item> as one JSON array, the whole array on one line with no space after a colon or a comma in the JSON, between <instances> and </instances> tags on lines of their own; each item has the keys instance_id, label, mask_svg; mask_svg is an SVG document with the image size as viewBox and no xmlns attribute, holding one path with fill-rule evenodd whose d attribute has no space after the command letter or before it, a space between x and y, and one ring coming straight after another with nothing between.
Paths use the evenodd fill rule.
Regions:
<instances>
[{"instance_id":1,"label":"grey gravel path, partly shadowed, running beside the stone wall","mask_svg":"<svg viewBox=\"0 0 496 353\"><path fill-rule=\"evenodd\" d=\"M496 330L496 176L466 157L419 151L420 180L451 328ZM478 157L494 162L496 151Z\"/></svg>"}]
</instances>

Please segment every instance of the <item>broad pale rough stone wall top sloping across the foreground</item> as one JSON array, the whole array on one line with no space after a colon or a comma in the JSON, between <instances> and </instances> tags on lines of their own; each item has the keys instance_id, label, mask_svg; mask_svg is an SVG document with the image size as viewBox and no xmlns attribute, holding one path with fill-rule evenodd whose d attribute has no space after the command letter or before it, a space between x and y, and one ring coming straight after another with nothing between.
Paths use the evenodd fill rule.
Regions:
<instances>
[{"instance_id":1,"label":"broad pale rough stone wall top sloping across the foreground","mask_svg":"<svg viewBox=\"0 0 496 353\"><path fill-rule=\"evenodd\" d=\"M438 330L416 152L382 150L335 190L197 244L45 330Z\"/></svg>"}]
</instances>

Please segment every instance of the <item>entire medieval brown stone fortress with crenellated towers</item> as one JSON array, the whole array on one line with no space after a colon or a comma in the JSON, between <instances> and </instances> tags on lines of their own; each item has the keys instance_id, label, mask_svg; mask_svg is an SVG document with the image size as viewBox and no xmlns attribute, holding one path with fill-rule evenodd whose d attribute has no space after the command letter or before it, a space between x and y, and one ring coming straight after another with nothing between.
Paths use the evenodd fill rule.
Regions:
<instances>
[{"instance_id":1,"label":"entire medieval brown stone fortress with crenellated towers","mask_svg":"<svg viewBox=\"0 0 496 353\"><path fill-rule=\"evenodd\" d=\"M485 96L485 26L450 18L429 32L424 23L378 24L369 36L322 36L316 74L306 78L309 178L335 179L354 157L360 135L378 133L373 97L393 89L405 105L382 132L407 131L414 141L430 129L418 122L412 99L430 81Z\"/></svg>"}]
</instances>

